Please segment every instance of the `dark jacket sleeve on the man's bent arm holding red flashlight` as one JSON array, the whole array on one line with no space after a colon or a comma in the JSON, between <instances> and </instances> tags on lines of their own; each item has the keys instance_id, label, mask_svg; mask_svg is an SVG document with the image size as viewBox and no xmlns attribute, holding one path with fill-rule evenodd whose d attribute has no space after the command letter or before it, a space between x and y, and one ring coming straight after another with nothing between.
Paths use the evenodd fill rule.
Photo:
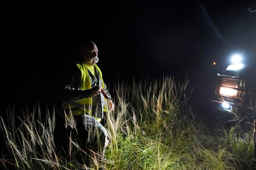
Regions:
<instances>
[{"instance_id":1,"label":"dark jacket sleeve on the man's bent arm holding red flashlight","mask_svg":"<svg viewBox=\"0 0 256 170\"><path fill-rule=\"evenodd\" d=\"M61 102L74 102L89 98L90 90L78 88L81 79L81 71L76 67L62 76L62 83L56 91L56 98Z\"/></svg>"}]
</instances>

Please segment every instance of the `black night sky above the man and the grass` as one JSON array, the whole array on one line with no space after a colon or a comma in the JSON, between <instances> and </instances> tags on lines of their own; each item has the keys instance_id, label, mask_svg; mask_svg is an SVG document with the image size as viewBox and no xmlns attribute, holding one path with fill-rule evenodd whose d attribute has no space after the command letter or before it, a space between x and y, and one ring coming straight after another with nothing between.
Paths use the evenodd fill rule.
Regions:
<instances>
[{"instance_id":1,"label":"black night sky above the man and the grass","mask_svg":"<svg viewBox=\"0 0 256 170\"><path fill-rule=\"evenodd\" d=\"M99 49L107 83L188 75L195 95L202 96L198 100L204 100L214 84L211 77L222 69L213 61L235 51L256 57L256 12L248 10L255 2L98 1L13 8L2 20L4 105L51 101L53 72L74 59L78 44L87 40Z\"/></svg>"}]
</instances>

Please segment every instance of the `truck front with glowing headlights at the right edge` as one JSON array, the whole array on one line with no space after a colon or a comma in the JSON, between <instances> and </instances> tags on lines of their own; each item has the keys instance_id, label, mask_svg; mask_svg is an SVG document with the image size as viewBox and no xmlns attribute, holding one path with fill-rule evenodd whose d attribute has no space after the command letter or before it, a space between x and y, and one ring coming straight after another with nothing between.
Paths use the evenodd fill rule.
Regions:
<instances>
[{"instance_id":1,"label":"truck front with glowing headlights at the right edge","mask_svg":"<svg viewBox=\"0 0 256 170\"><path fill-rule=\"evenodd\" d=\"M215 107L235 117L247 117L253 122L254 157L256 158L256 64L255 57L242 59L240 54L231 57L231 63L217 73ZM216 62L214 62L216 64Z\"/></svg>"}]
</instances>

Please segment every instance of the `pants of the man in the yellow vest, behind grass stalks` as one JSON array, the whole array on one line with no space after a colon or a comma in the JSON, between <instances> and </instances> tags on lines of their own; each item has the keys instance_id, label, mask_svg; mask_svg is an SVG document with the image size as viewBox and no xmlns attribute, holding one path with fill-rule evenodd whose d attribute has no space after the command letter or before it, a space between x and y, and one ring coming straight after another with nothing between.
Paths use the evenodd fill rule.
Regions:
<instances>
[{"instance_id":1,"label":"pants of the man in the yellow vest, behind grass stalks","mask_svg":"<svg viewBox=\"0 0 256 170\"><path fill-rule=\"evenodd\" d=\"M68 137L71 137L72 141L85 152L78 161L88 165L92 159L96 158L100 166L104 166L105 149L109 142L107 130L91 116L75 115L73 117L76 128L68 126Z\"/></svg>"}]
</instances>

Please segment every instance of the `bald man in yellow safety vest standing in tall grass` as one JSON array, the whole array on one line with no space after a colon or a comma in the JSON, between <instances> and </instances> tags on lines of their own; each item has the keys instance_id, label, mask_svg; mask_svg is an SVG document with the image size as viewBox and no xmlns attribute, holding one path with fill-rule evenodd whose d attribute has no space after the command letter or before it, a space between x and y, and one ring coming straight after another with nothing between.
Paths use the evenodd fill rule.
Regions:
<instances>
[{"instance_id":1,"label":"bald man in yellow safety vest standing in tall grass","mask_svg":"<svg viewBox=\"0 0 256 170\"><path fill-rule=\"evenodd\" d=\"M81 61L69 70L64 87L57 93L67 119L74 118L82 149L99 154L101 163L109 137L101 119L107 109L112 111L114 104L107 86L103 82L98 63L98 48L92 41L86 41L80 49ZM101 91L105 91L108 99ZM76 133L75 130L71 133ZM70 134L69 134L70 135ZM72 135L72 134L71 134ZM103 164L103 163L102 163Z\"/></svg>"}]
</instances>

